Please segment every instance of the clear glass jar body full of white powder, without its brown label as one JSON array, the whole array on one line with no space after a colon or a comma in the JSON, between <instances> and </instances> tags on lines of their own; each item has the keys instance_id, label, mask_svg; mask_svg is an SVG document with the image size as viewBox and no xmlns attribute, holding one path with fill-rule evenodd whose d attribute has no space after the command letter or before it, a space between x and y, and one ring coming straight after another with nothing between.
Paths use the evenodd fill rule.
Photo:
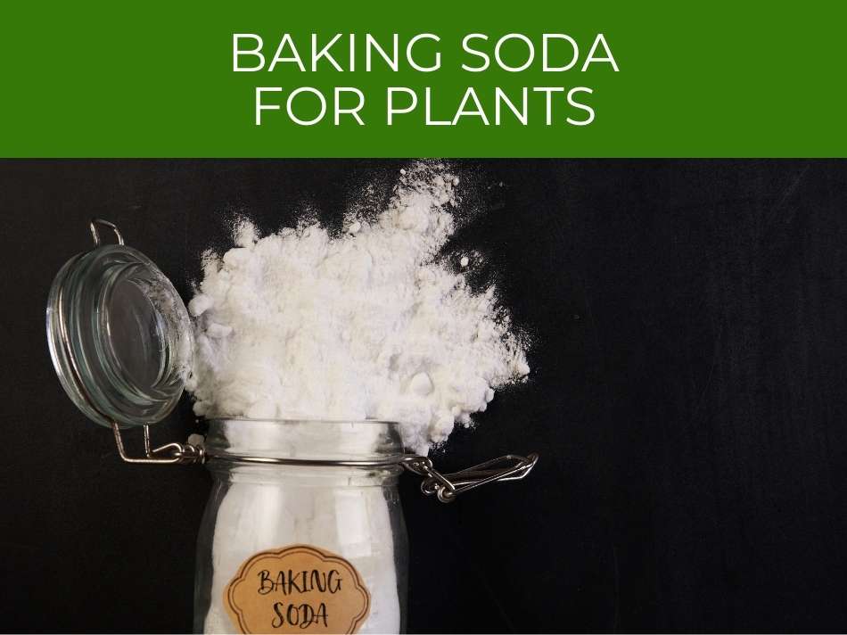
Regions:
<instances>
[{"instance_id":1,"label":"clear glass jar body full of white powder, without its brown label","mask_svg":"<svg viewBox=\"0 0 847 635\"><path fill-rule=\"evenodd\" d=\"M208 464L213 488L198 536L195 631L239 631L226 606L228 585L251 557L293 545L341 557L358 573L369 607L357 632L404 630L407 534L397 488L401 469L385 460L400 446L385 426L391 424L212 422L207 450L218 458ZM276 443L279 449L273 449ZM245 450L259 456L246 457ZM301 627L297 630L308 632Z\"/></svg>"}]
</instances>

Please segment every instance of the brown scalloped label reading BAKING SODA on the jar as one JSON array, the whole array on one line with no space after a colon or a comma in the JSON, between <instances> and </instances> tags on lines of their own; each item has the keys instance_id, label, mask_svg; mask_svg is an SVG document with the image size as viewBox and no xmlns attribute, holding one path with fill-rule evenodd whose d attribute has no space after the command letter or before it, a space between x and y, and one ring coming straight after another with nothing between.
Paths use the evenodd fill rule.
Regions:
<instances>
[{"instance_id":1,"label":"brown scalloped label reading BAKING SODA on the jar","mask_svg":"<svg viewBox=\"0 0 847 635\"><path fill-rule=\"evenodd\" d=\"M226 612L242 633L355 633L371 596L356 568L309 545L261 551L224 590Z\"/></svg>"}]
</instances>

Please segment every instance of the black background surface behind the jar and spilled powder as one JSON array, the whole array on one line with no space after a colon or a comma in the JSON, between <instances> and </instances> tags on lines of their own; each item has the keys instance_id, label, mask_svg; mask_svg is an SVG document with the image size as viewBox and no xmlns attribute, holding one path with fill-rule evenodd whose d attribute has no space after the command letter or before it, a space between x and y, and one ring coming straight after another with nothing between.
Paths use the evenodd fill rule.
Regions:
<instances>
[{"instance_id":1,"label":"black background surface behind the jar and spilled powder","mask_svg":"<svg viewBox=\"0 0 847 635\"><path fill-rule=\"evenodd\" d=\"M129 466L53 374L54 274L118 223L187 296L246 212L341 210L402 161L0 163L0 626L188 631L200 467ZM473 161L532 380L445 469L538 450L453 505L401 486L410 631L843 631L847 163ZM502 186L499 185L502 182ZM185 439L185 403L154 441Z\"/></svg>"}]
</instances>

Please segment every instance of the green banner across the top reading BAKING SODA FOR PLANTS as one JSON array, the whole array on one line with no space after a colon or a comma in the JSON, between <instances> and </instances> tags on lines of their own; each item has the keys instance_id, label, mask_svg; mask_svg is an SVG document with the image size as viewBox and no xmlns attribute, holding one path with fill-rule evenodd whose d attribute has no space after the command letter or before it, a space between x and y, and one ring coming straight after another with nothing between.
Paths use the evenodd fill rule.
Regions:
<instances>
[{"instance_id":1,"label":"green banner across the top reading BAKING SODA FOR PLANTS","mask_svg":"<svg viewBox=\"0 0 847 635\"><path fill-rule=\"evenodd\" d=\"M8 4L0 156L847 156L844 7Z\"/></svg>"}]
</instances>

